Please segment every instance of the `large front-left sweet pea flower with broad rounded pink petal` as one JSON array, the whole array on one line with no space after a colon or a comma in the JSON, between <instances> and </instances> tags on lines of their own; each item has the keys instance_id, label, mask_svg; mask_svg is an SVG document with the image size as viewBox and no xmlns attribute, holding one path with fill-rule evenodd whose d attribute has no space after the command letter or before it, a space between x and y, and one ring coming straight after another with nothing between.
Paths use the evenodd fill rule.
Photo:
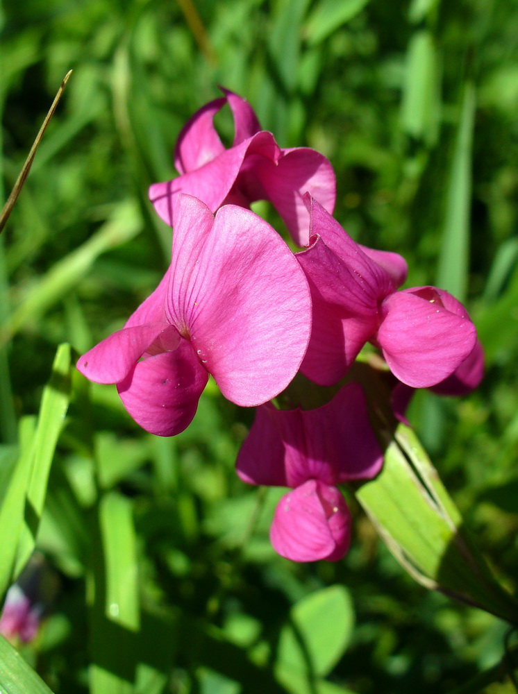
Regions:
<instances>
[{"instance_id":1,"label":"large front-left sweet pea flower with broad rounded pink petal","mask_svg":"<svg viewBox=\"0 0 518 694\"><path fill-rule=\"evenodd\" d=\"M190 424L212 374L223 395L251 407L275 397L299 369L311 307L293 253L250 210L216 216L179 195L171 265L153 294L78 361L115 383L145 430L172 436Z\"/></svg>"}]
</instances>

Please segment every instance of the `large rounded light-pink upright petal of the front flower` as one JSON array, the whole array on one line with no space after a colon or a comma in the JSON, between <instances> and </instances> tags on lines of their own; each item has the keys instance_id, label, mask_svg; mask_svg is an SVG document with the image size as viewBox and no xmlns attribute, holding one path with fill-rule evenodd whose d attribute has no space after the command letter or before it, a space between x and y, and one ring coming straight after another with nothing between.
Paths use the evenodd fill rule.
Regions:
<instances>
[{"instance_id":1,"label":"large rounded light-pink upright petal of the front flower","mask_svg":"<svg viewBox=\"0 0 518 694\"><path fill-rule=\"evenodd\" d=\"M190 198L178 214L177 266L176 243L198 233L192 221L197 209L199 216L206 214L202 203ZM311 322L306 278L276 231L249 210L226 205L210 233L202 233L199 255L186 258L183 273L173 269L170 320L182 334L186 326L228 400L260 405L285 389L306 352Z\"/></svg>"}]
</instances>

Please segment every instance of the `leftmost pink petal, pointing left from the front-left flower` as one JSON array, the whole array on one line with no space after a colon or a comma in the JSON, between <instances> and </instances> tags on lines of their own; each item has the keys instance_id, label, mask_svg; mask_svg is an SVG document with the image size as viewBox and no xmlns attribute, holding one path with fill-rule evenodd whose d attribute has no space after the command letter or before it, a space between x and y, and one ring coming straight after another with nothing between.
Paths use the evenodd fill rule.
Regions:
<instances>
[{"instance_id":1,"label":"leftmost pink petal, pointing left from the front-left flower","mask_svg":"<svg viewBox=\"0 0 518 694\"><path fill-rule=\"evenodd\" d=\"M95 383L119 383L156 341L163 348L175 350L180 336L169 323L123 328L79 357L77 369Z\"/></svg>"}]
</instances>

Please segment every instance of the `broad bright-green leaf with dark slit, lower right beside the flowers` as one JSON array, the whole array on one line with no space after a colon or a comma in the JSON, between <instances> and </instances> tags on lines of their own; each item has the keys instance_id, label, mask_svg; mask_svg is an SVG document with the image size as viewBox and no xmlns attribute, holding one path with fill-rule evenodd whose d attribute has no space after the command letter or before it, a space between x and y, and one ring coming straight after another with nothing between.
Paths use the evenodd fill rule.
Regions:
<instances>
[{"instance_id":1,"label":"broad bright-green leaf with dark slit, lower right beside the flowers","mask_svg":"<svg viewBox=\"0 0 518 694\"><path fill-rule=\"evenodd\" d=\"M428 589L513 624L518 604L496 582L417 437L399 424L383 470L356 491L403 568Z\"/></svg>"}]
</instances>

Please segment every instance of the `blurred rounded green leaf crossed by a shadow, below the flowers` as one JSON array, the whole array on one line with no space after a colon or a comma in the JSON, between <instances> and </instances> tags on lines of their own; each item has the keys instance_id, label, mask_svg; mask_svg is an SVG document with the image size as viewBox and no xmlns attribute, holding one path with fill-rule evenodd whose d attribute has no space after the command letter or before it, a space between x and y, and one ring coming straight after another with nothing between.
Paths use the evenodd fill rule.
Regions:
<instances>
[{"instance_id":1,"label":"blurred rounded green leaf crossed by a shadow, below the flowers","mask_svg":"<svg viewBox=\"0 0 518 694\"><path fill-rule=\"evenodd\" d=\"M344 586L329 586L299 600L278 644L277 664L326 675L349 644L353 604Z\"/></svg>"}]
</instances>

